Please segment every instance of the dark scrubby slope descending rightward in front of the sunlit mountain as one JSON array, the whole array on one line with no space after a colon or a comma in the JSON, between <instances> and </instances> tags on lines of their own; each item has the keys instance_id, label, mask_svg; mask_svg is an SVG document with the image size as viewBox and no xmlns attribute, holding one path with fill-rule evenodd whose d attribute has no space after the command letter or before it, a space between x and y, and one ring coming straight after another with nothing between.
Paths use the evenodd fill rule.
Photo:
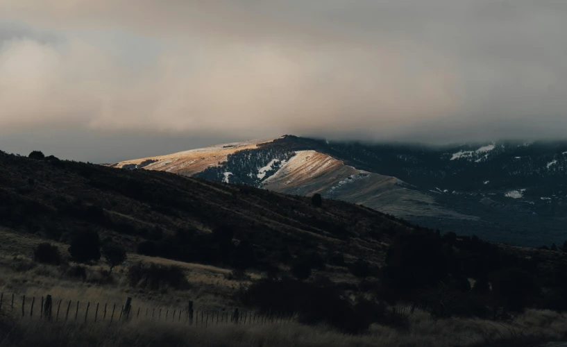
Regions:
<instances>
[{"instance_id":1,"label":"dark scrubby slope descending rightward in front of the sunlit mountain","mask_svg":"<svg viewBox=\"0 0 567 347\"><path fill-rule=\"evenodd\" d=\"M325 199L316 208L310 198L255 187L6 153L0 153L0 225L60 242L99 230L130 251L155 240L167 257L205 263L222 258L211 231L230 228L236 240L253 244L260 264L335 252L348 262L364 257L378 264L391 236L411 229L342 201Z\"/></svg>"}]
</instances>

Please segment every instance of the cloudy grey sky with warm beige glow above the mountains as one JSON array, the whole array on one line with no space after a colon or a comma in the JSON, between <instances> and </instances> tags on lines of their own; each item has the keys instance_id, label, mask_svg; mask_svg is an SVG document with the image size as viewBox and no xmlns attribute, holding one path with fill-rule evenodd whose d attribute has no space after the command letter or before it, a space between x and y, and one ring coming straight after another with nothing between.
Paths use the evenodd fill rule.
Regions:
<instances>
[{"instance_id":1,"label":"cloudy grey sky with warm beige glow above the mountains","mask_svg":"<svg viewBox=\"0 0 567 347\"><path fill-rule=\"evenodd\" d=\"M0 150L567 136L564 0L0 0Z\"/></svg>"}]
</instances>

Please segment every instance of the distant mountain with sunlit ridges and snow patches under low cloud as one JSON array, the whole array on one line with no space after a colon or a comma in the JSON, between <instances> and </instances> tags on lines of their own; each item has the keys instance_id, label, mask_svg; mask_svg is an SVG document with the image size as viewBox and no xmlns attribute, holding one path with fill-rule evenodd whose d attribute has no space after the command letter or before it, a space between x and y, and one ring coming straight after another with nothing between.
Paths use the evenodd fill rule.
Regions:
<instances>
[{"instance_id":1,"label":"distant mountain with sunlit ridges and snow patches under low cloud","mask_svg":"<svg viewBox=\"0 0 567 347\"><path fill-rule=\"evenodd\" d=\"M286 135L112 164L337 198L523 246L567 238L567 142L364 144Z\"/></svg>"}]
</instances>

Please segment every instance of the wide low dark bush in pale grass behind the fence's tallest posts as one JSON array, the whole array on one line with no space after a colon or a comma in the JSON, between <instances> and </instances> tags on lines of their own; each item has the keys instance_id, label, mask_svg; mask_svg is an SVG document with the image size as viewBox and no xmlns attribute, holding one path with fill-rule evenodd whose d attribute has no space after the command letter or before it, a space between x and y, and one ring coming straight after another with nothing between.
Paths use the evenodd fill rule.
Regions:
<instances>
[{"instance_id":1,"label":"wide low dark bush in pale grass behind the fence's tallest posts","mask_svg":"<svg viewBox=\"0 0 567 347\"><path fill-rule=\"evenodd\" d=\"M155 290L164 286L183 289L188 285L185 271L179 266L144 264L142 262L128 268L128 280L132 287Z\"/></svg>"}]
</instances>

